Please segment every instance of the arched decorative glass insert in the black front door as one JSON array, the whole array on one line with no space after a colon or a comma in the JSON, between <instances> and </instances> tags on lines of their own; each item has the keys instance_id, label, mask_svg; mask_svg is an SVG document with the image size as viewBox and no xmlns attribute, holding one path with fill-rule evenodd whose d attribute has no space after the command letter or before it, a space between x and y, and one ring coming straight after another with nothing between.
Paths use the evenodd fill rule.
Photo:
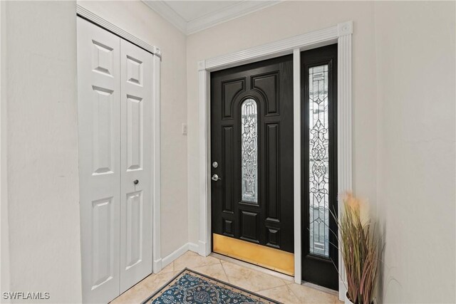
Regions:
<instances>
[{"instance_id":1,"label":"arched decorative glass insert in the black front door","mask_svg":"<svg viewBox=\"0 0 456 304\"><path fill-rule=\"evenodd\" d=\"M257 103L252 98L241 105L242 201L258 201Z\"/></svg>"}]
</instances>

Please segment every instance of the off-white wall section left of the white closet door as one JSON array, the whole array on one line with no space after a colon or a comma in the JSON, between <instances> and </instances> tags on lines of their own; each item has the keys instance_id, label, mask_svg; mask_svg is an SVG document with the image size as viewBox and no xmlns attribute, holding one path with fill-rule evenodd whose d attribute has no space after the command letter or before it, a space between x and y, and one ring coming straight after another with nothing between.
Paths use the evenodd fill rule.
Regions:
<instances>
[{"instance_id":1,"label":"off-white wall section left of the white closet door","mask_svg":"<svg viewBox=\"0 0 456 304\"><path fill-rule=\"evenodd\" d=\"M75 11L8 2L3 37L9 290L47 291L53 303L81 302Z\"/></svg>"}]
</instances>

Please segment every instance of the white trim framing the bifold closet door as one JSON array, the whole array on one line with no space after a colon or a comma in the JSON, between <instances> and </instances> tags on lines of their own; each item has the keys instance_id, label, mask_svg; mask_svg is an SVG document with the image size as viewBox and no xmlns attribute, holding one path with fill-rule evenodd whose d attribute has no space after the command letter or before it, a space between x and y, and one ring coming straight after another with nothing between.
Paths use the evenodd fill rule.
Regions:
<instances>
[{"instance_id":1,"label":"white trim framing the bifold closet door","mask_svg":"<svg viewBox=\"0 0 456 304\"><path fill-rule=\"evenodd\" d=\"M140 38L133 36L131 33L124 31L122 28L115 26L113 23L106 21L100 16L93 14L85 7L76 4L76 14L81 16L105 30L114 33L120 38L129 41L136 46L152 53L152 179L150 187L152 189L152 269L153 273L162 270L162 258L160 249L160 58L162 53L160 48L151 46L149 43L142 41Z\"/></svg>"}]
</instances>

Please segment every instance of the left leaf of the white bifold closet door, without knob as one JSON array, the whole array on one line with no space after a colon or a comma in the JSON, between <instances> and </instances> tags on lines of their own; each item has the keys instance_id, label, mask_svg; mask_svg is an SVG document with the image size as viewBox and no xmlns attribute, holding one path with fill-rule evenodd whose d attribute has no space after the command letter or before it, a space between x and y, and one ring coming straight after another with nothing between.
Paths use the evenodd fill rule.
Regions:
<instances>
[{"instance_id":1,"label":"left leaf of the white bifold closet door, without knob","mask_svg":"<svg viewBox=\"0 0 456 304\"><path fill-rule=\"evenodd\" d=\"M107 303L120 282L120 38L77 29L83 302Z\"/></svg>"}]
</instances>

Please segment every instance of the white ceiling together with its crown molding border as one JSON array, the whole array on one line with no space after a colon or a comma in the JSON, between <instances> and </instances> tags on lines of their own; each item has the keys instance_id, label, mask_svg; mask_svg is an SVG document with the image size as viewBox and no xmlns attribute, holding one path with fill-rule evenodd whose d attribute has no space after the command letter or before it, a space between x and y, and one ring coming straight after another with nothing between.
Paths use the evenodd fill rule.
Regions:
<instances>
[{"instance_id":1,"label":"white ceiling together with its crown molding border","mask_svg":"<svg viewBox=\"0 0 456 304\"><path fill-rule=\"evenodd\" d=\"M278 4L282 0L142 1L188 35Z\"/></svg>"}]
</instances>

